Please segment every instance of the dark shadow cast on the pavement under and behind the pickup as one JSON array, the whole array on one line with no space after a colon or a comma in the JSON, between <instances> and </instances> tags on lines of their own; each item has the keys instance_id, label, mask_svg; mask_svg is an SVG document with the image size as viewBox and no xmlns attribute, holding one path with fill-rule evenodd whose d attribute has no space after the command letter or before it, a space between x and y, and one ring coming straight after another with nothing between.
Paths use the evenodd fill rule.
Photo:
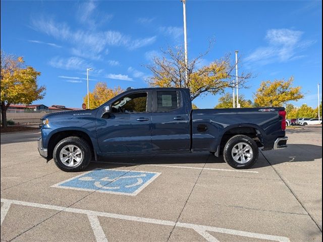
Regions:
<instances>
[{"instance_id":1,"label":"dark shadow cast on the pavement under and behind the pickup","mask_svg":"<svg viewBox=\"0 0 323 242\"><path fill-rule=\"evenodd\" d=\"M282 150L259 151L258 161L249 169L261 168L280 163L310 162L322 158L322 148L317 145L289 144ZM136 166L140 164L163 164L177 166L194 166L194 164L214 164L212 168L231 168L223 166L223 156L215 157L209 152L190 154L157 154L157 155L119 155L101 158L99 162L92 162L86 170L96 168L118 168ZM219 167L216 165L219 164ZM220 167L221 166L221 167ZM196 166L196 167L201 167Z\"/></svg>"}]
</instances>

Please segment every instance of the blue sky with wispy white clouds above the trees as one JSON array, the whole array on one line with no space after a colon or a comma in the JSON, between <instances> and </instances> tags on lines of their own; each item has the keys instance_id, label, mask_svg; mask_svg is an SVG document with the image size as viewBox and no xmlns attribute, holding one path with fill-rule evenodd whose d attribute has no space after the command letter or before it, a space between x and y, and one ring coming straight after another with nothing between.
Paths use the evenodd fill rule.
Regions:
<instances>
[{"instance_id":1,"label":"blue sky with wispy white clouds above the trees","mask_svg":"<svg viewBox=\"0 0 323 242\"><path fill-rule=\"evenodd\" d=\"M143 65L161 48L183 44L180 1L1 1L1 49L24 56L41 72L47 87L42 103L81 107L98 81L109 87L146 87L150 72ZM295 78L304 99L317 106L322 80L321 1L187 0L188 58L216 42L203 63L239 50L239 72L251 72L252 99L263 80ZM321 89L320 89L321 90ZM231 90L228 90L231 92ZM321 91L320 91L321 92ZM194 100L211 108L219 95Z\"/></svg>"}]
</instances>

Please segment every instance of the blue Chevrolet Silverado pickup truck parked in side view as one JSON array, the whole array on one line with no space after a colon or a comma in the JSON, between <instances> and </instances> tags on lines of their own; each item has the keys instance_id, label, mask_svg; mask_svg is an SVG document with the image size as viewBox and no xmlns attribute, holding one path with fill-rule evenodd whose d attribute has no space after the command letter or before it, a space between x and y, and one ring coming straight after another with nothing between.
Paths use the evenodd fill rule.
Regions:
<instances>
[{"instance_id":1,"label":"blue Chevrolet Silverado pickup truck parked in side view","mask_svg":"<svg viewBox=\"0 0 323 242\"><path fill-rule=\"evenodd\" d=\"M184 88L127 89L94 109L44 115L38 151L64 171L110 155L193 151L243 169L259 148L287 147L285 115L284 107L192 109Z\"/></svg>"}]
</instances>

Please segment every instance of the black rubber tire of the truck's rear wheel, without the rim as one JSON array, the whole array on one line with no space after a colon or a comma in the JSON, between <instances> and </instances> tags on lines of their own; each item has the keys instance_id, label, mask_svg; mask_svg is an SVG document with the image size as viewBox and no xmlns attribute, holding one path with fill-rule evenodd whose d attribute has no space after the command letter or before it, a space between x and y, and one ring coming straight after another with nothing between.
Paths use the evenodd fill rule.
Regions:
<instances>
[{"instance_id":1,"label":"black rubber tire of the truck's rear wheel, without the rim","mask_svg":"<svg viewBox=\"0 0 323 242\"><path fill-rule=\"evenodd\" d=\"M246 163L238 163L233 159L232 150L238 143L246 143L251 147L252 158ZM223 157L225 162L227 162L231 167L235 169L247 169L250 168L258 159L259 150L256 142L248 136L236 135L228 140L227 144L223 150Z\"/></svg>"}]
</instances>

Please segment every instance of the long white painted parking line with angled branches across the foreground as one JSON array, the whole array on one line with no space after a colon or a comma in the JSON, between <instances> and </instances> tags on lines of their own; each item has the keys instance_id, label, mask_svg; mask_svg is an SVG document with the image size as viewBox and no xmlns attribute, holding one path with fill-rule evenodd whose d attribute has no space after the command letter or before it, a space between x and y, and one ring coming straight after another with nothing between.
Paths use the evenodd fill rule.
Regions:
<instances>
[{"instance_id":1,"label":"long white painted parking line with angled branches across the foreground","mask_svg":"<svg viewBox=\"0 0 323 242\"><path fill-rule=\"evenodd\" d=\"M9 199L1 199L1 202L4 203L3 207L6 205L6 207L4 209L7 209L7 212L9 210L9 207L11 204L17 204L17 205L22 205L22 206L29 206L29 207L36 207L36 208L59 210L59 211L64 211L64 212L86 214L90 220L93 232L95 234L95 238L99 242L100 241L107 241L107 239L106 239L103 229L97 219L97 216L107 217L107 218L117 218L117 219L123 219L123 220L128 220L128 221L159 224L159 225L168 225L168 226L173 226L173 227L176 226L176 227L190 228L190 229L194 229L197 233L202 235L209 242L215 242L218 240L215 237L213 237L212 235L210 235L207 231L233 234L233 235L244 236L244 237L249 237L249 238L259 238L259 239L267 239L267 240L272 240L272 241L290 242L289 238L282 237L282 236L275 236L275 235L262 234L262 233L252 233L252 232L247 232L247 231L205 226L205 225L199 225L199 224L193 224L193 223L181 223L181 222L175 223L173 221L168 221L168 220L135 217L135 216L128 216L128 215L123 215L123 214L115 214L115 213L97 212L97 211L77 209L77 208L66 208L66 207L54 206L54 205L49 205L49 204L30 203L30 202L23 202L23 201L17 201L17 200L9 200ZM3 215L3 207L1 208L1 221L3 221L5 219L5 216L7 214L7 212L4 212L4 215Z\"/></svg>"}]
</instances>

